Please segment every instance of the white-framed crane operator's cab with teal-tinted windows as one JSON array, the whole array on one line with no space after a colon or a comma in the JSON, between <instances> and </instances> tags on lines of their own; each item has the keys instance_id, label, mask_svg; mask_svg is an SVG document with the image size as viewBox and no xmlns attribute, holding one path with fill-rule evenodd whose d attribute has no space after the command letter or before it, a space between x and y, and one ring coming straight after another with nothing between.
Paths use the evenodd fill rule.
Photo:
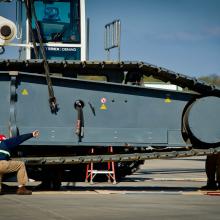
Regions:
<instances>
[{"instance_id":1,"label":"white-framed crane operator's cab with teal-tinted windows","mask_svg":"<svg viewBox=\"0 0 220 220\"><path fill-rule=\"evenodd\" d=\"M85 0L33 0L33 5L47 59L86 60ZM25 59L35 58L33 37L39 43L33 11L30 14L33 35L28 19L22 20L22 41L29 45L22 52Z\"/></svg>"}]
</instances>

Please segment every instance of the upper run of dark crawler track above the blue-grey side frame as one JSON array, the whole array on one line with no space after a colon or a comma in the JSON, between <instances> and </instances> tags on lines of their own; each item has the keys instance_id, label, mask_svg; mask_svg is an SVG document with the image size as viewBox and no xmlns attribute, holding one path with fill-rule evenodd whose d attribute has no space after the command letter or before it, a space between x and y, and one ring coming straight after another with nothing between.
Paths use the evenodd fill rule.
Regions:
<instances>
[{"instance_id":1,"label":"upper run of dark crawler track above the blue-grey side frame","mask_svg":"<svg viewBox=\"0 0 220 220\"><path fill-rule=\"evenodd\" d=\"M48 61L51 72L72 72L83 75L105 75L110 73L124 74L130 71L142 76L152 76L163 82L170 82L177 86L188 88L203 96L220 97L220 88L209 85L196 78L176 73L174 71L151 65L145 62L107 62L107 61ZM37 71L36 71L37 70ZM21 71L44 73L42 60L0 60L0 71Z\"/></svg>"}]
</instances>

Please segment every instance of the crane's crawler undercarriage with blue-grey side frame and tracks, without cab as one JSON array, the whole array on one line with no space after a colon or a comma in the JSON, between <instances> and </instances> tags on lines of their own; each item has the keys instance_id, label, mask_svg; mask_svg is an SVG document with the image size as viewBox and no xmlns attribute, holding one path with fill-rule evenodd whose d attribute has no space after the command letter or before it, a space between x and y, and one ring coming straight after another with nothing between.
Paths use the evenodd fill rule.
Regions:
<instances>
[{"instance_id":1,"label":"crane's crawler undercarriage with blue-grey side frame and tracks, without cab","mask_svg":"<svg viewBox=\"0 0 220 220\"><path fill-rule=\"evenodd\" d=\"M42 133L14 155L26 161L30 175L36 169L68 170L82 180L83 164L111 160L119 179L147 159L220 151L215 86L142 62L48 61L48 66L56 109L48 105L42 60L0 61L1 93L10 94L1 97L1 132L15 136L37 128ZM106 82L80 76L104 76ZM189 91L145 88L143 76ZM114 153L106 153L109 146Z\"/></svg>"}]
</instances>

